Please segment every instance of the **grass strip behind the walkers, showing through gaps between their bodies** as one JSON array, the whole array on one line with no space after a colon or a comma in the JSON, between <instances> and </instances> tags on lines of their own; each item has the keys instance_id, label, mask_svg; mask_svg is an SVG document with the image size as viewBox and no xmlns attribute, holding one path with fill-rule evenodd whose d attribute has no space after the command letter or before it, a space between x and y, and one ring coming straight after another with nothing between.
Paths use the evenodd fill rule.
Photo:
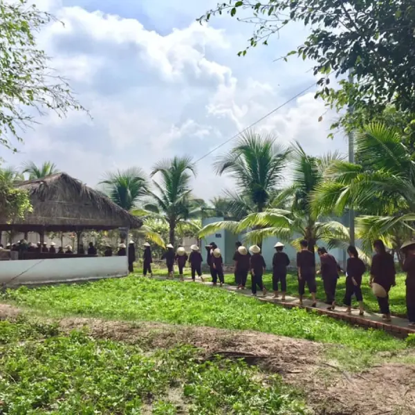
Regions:
<instances>
[{"instance_id":1,"label":"grass strip behind the walkers, showing through gaps between their bodies","mask_svg":"<svg viewBox=\"0 0 415 415\"><path fill-rule=\"evenodd\" d=\"M138 270L138 273L140 273L139 270ZM167 270L165 268L156 267L154 268L154 275L160 275L162 277L165 277L167 276ZM187 277L190 277L190 268L185 268L184 275ZM400 273L396 275L396 286L393 287L389 293L391 313L394 315L401 316L401 317L406 316L405 279L406 279L406 274ZM225 282L226 284L235 285L234 275L233 274L225 275ZM336 302L338 304L343 303L344 293L346 292L345 282L346 282L346 277L344 275L341 275L340 279L338 280L338 288L337 288L336 296L335 296ZM273 275L271 273L266 273L264 275L264 284L266 285L266 288L268 290L272 290ZM248 277L248 287L250 287L250 277ZM363 279L362 293L363 293L365 308L367 309L367 311L373 311L374 313L378 313L379 312L378 301L376 300L376 297L374 297L374 295L372 294L371 288L369 287L369 275L365 275ZM294 297L298 297L298 282L297 282L296 274L289 274L287 276L287 294L292 295ZM321 277L318 275L317 275L317 298L320 299L321 301L326 300L326 295L324 294L323 282L322 282ZM358 302L356 302L355 297L353 297L353 301L354 301L353 306L357 307Z\"/></svg>"}]
</instances>

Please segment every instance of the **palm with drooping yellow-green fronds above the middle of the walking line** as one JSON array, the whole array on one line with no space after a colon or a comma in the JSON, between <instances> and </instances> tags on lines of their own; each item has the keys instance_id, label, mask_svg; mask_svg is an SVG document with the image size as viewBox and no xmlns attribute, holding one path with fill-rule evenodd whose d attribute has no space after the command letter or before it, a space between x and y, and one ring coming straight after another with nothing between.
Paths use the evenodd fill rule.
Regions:
<instances>
[{"instance_id":1,"label":"palm with drooping yellow-green fronds above the middle of the walking line","mask_svg":"<svg viewBox=\"0 0 415 415\"><path fill-rule=\"evenodd\" d=\"M322 221L324 218L313 208L310 198L324 180L323 172L326 165L337 158L337 154L321 158L308 156L296 143L292 148L293 185L275 198L272 207L263 212L249 214L241 221L223 221L207 225L201 230L200 236L227 229L236 234L248 231L244 239L254 243L268 237L279 237L293 246L298 246L300 239L306 239L308 249L312 252L320 239L329 246L344 244L349 239L347 228L336 221ZM290 208L280 209L282 203ZM295 234L299 234L300 237L293 239Z\"/></svg>"}]
</instances>

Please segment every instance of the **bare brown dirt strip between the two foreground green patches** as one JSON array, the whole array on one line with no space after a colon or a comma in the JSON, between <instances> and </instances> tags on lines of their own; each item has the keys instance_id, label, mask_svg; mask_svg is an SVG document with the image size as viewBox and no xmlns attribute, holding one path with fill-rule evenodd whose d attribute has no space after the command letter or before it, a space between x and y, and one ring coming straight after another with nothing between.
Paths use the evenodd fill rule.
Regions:
<instances>
[{"instance_id":1,"label":"bare brown dirt strip between the two foreground green patches","mask_svg":"<svg viewBox=\"0 0 415 415\"><path fill-rule=\"evenodd\" d=\"M18 314L17 308L0 304L1 319ZM415 414L415 365L387 363L347 373L326 361L326 345L266 333L88 318L64 318L59 324L63 333L88 329L94 338L145 350L191 344L201 349L201 359L218 353L243 358L302 389L316 415Z\"/></svg>"}]
</instances>

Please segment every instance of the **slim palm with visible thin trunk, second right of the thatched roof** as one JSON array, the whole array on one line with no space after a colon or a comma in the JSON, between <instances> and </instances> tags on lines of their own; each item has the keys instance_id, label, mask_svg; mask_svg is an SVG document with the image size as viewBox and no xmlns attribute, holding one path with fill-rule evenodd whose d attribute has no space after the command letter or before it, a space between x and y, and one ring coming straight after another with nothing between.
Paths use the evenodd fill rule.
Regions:
<instances>
[{"instance_id":1,"label":"slim palm with visible thin trunk, second right of the thatched roof","mask_svg":"<svg viewBox=\"0 0 415 415\"><path fill-rule=\"evenodd\" d=\"M168 223L169 243L174 244L178 223L200 213L197 203L194 203L195 199L192 199L190 187L190 178L196 176L196 166L192 158L176 156L157 163L151 177L156 174L160 175L161 182L153 182L157 192L149 192L152 201L145 205L145 209Z\"/></svg>"}]
</instances>

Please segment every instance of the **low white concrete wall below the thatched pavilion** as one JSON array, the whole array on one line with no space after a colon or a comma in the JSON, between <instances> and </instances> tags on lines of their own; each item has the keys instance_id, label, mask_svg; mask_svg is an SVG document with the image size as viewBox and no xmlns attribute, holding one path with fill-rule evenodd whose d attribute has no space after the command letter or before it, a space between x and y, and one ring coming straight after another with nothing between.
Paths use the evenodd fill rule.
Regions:
<instances>
[{"instance_id":1,"label":"low white concrete wall below the thatched pavilion","mask_svg":"<svg viewBox=\"0 0 415 415\"><path fill-rule=\"evenodd\" d=\"M29 259L0 262L0 284L10 287L124 277L127 274L127 257Z\"/></svg>"}]
</instances>

